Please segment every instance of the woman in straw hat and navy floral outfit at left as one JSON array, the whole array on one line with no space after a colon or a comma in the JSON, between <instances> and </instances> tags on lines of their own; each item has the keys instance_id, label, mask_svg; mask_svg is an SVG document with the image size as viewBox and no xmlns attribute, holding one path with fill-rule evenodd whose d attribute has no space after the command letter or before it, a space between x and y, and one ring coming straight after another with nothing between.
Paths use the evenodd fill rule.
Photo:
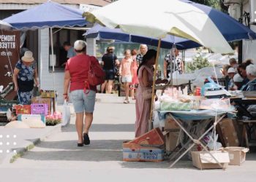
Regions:
<instances>
[{"instance_id":1,"label":"woman in straw hat and navy floral outfit at left","mask_svg":"<svg viewBox=\"0 0 256 182\"><path fill-rule=\"evenodd\" d=\"M21 60L16 64L13 81L15 91L18 91L20 104L30 104L34 84L38 86L37 64L34 61L31 51L26 51L23 57L21 57Z\"/></svg>"}]
</instances>

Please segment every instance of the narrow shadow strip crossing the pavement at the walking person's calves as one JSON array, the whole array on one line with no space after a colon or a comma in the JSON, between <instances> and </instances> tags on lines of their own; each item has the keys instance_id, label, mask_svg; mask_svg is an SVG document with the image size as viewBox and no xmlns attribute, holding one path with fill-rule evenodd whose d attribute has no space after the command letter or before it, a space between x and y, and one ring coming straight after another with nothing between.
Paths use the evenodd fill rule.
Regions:
<instances>
[{"instance_id":1,"label":"narrow shadow strip crossing the pavement at the walking person's calves","mask_svg":"<svg viewBox=\"0 0 256 182\"><path fill-rule=\"evenodd\" d=\"M61 127L62 132L75 132L75 124ZM135 124L91 124L90 132L134 132Z\"/></svg>"}]
</instances>

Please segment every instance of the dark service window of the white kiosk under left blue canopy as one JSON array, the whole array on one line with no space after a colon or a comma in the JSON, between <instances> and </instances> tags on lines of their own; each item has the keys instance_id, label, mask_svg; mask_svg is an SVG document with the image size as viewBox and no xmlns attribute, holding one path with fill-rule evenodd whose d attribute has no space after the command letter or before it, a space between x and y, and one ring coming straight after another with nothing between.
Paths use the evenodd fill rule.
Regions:
<instances>
[{"instance_id":1,"label":"dark service window of the white kiosk under left blue canopy","mask_svg":"<svg viewBox=\"0 0 256 182\"><path fill-rule=\"evenodd\" d=\"M53 63L55 63L56 71L64 70L64 63L67 62L67 51L64 50L63 44L65 41L70 42L71 45L78 39L83 38L84 31L72 29L53 28L53 61L51 56L51 42L49 33L49 69L52 70Z\"/></svg>"}]
</instances>

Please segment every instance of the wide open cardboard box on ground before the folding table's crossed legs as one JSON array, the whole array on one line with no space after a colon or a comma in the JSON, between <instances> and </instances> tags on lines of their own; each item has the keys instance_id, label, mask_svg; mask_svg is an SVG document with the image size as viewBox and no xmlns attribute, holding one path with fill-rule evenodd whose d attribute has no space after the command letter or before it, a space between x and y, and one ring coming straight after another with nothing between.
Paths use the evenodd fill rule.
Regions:
<instances>
[{"instance_id":1,"label":"wide open cardboard box on ground before the folding table's crossed legs","mask_svg":"<svg viewBox=\"0 0 256 182\"><path fill-rule=\"evenodd\" d=\"M227 168L228 163L230 162L230 157L227 151L210 151L211 154L218 160L218 162ZM206 151L192 151L192 162L195 167L198 169L222 169L219 164L211 157L210 154Z\"/></svg>"}]
</instances>

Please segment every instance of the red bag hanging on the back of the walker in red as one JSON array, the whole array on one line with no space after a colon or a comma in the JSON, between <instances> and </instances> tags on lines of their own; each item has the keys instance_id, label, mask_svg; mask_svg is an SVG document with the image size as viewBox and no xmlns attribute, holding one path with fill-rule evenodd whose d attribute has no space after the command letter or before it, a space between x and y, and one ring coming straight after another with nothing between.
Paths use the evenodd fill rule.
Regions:
<instances>
[{"instance_id":1,"label":"red bag hanging on the back of the walker in red","mask_svg":"<svg viewBox=\"0 0 256 182\"><path fill-rule=\"evenodd\" d=\"M90 57L89 61L89 71L86 79L85 86L88 87L88 84L91 86L97 86L105 82L105 72L102 67L98 64L91 64L91 60L96 59L93 56Z\"/></svg>"}]
</instances>

